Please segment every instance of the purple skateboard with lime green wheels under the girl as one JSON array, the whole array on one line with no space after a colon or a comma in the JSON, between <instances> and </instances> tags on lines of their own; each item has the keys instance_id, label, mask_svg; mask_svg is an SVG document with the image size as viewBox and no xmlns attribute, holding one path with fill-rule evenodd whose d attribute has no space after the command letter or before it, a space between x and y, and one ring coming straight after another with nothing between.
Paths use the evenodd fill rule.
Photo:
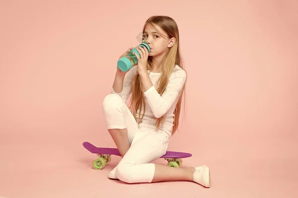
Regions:
<instances>
[{"instance_id":1,"label":"purple skateboard with lime green wheels under the girl","mask_svg":"<svg viewBox=\"0 0 298 198\"><path fill-rule=\"evenodd\" d=\"M83 146L90 151L91 153L95 153L98 155L98 158L93 161L93 168L101 170L105 167L105 165L109 164L111 161L111 155L121 156L118 148L103 148L96 147L89 142L83 142ZM168 162L168 166L170 167L181 167L182 159L191 157L191 153L184 152L175 152L175 151L167 151L160 158L164 158Z\"/></svg>"}]
</instances>

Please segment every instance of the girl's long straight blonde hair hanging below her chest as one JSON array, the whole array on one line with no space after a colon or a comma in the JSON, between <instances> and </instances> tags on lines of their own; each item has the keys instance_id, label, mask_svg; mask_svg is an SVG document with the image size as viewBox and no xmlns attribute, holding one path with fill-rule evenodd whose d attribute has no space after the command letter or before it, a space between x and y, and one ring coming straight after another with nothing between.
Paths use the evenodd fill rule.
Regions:
<instances>
[{"instance_id":1,"label":"girl's long straight blonde hair hanging below her chest","mask_svg":"<svg viewBox=\"0 0 298 198\"><path fill-rule=\"evenodd\" d=\"M171 73L173 72L173 68L175 65L180 66L183 69L183 63L182 63L182 56L180 54L180 46L179 46L179 30L176 22L168 16L151 16L145 23L143 27L143 33L145 31L147 24L159 26L163 31L167 33L169 38L174 37L176 39L175 44L168 50L167 54L165 55L163 61L160 64L160 69L162 71L162 74L160 76L160 79L158 81L158 87L156 87L157 92L161 95L168 83L169 77ZM156 28L155 28L156 29ZM158 32L158 30L156 29ZM160 33L160 32L159 32ZM161 34L162 35L162 34ZM150 70L152 66L153 60L151 57L148 58L148 69ZM140 124L141 120L144 117L145 113L145 99L143 95L143 87L141 82L141 77L139 73L137 72L134 76L133 83L132 83L132 97L131 97L131 105L130 109L132 111L132 114L134 115L136 121ZM173 123L173 130L172 134L178 129L179 125L179 116L180 116L180 109L181 109L181 102L182 102L182 95L185 90L185 84L182 88L182 91L179 95L179 100L176 105L175 111L174 111L174 123ZM185 95L184 95L185 96ZM139 119L137 119L136 114L139 110ZM143 110L142 118L140 118L141 111ZM160 125L163 124L165 120L165 115L163 115L160 118L156 118L156 131L159 129Z\"/></svg>"}]
</instances>

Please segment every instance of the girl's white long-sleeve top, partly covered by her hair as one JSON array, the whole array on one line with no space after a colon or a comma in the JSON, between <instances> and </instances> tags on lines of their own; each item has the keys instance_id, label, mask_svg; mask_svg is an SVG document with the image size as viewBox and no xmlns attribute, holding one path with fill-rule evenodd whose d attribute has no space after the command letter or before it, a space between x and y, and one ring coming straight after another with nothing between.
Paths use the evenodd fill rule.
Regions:
<instances>
[{"instance_id":1,"label":"girl's white long-sleeve top, partly covered by her hair","mask_svg":"<svg viewBox=\"0 0 298 198\"><path fill-rule=\"evenodd\" d=\"M112 88L112 93L118 94L124 102L127 101L132 93L132 80L134 75L137 73L137 70L138 66L134 66L126 73L123 82L123 89L120 93L116 93ZM163 126L159 127L159 129L171 134L174 122L174 110L179 99L179 93L186 82L186 72L176 65L170 75L165 91L161 95L158 94L155 89L158 85L157 83L161 73L153 73L149 71L148 73L153 86L144 92L146 108L144 118L140 126L155 129L155 119L166 115L165 122ZM141 111L141 113L143 113L143 111ZM139 117L138 114L140 114L139 111L137 112L137 118Z\"/></svg>"}]
</instances>

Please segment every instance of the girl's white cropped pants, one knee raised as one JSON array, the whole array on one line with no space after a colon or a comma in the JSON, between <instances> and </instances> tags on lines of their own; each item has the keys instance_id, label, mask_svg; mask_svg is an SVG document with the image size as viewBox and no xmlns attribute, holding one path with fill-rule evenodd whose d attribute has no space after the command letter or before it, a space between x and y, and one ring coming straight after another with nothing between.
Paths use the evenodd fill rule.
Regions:
<instances>
[{"instance_id":1,"label":"girl's white cropped pants, one knee raised","mask_svg":"<svg viewBox=\"0 0 298 198\"><path fill-rule=\"evenodd\" d=\"M150 183L154 176L152 162L165 154L170 136L148 127L139 127L129 108L117 94L105 97L103 113L107 129L127 129L129 150L116 169L116 176L126 183Z\"/></svg>"}]
</instances>

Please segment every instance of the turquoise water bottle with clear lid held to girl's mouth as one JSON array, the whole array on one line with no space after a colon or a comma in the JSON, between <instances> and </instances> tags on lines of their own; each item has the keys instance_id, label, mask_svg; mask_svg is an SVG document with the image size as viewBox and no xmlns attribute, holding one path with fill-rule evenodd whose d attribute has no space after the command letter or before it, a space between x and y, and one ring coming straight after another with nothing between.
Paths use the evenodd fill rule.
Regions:
<instances>
[{"instance_id":1,"label":"turquoise water bottle with clear lid held to girl's mouth","mask_svg":"<svg viewBox=\"0 0 298 198\"><path fill-rule=\"evenodd\" d=\"M141 44L139 46L141 47L146 47L148 49L148 52L150 52L150 47L147 44L147 36L143 33L140 33L137 36L137 40L139 42L141 42ZM137 48L137 47L136 47ZM128 71L130 68L132 68L133 66L136 66L138 64L138 59L137 57L133 54L133 52L135 52L139 57L140 57L140 53L137 51L137 49L134 48L132 49L127 56L122 57L121 59L119 59L119 61L117 62L117 66L119 67L119 69L121 71Z\"/></svg>"}]
</instances>

